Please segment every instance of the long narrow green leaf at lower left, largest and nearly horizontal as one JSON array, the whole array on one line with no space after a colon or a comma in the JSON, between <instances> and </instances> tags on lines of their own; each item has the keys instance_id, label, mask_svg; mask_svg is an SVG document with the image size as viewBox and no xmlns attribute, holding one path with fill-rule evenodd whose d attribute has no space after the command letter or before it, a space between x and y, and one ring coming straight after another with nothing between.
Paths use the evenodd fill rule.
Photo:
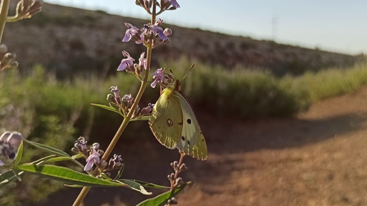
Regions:
<instances>
[{"instance_id":1,"label":"long narrow green leaf at lower left, largest and nearly horizontal","mask_svg":"<svg viewBox=\"0 0 367 206\"><path fill-rule=\"evenodd\" d=\"M60 181L67 184L77 184L90 187L121 187L127 186L121 183L98 179L75 170L56 165L17 165L16 169Z\"/></svg>"}]
</instances>

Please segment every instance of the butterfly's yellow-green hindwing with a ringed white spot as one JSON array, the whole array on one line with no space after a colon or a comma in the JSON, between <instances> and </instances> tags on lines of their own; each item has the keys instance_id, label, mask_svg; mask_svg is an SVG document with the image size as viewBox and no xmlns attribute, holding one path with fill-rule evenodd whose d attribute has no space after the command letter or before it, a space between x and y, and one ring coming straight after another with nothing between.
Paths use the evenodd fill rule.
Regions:
<instances>
[{"instance_id":1,"label":"butterfly's yellow-green hindwing with a ringed white spot","mask_svg":"<svg viewBox=\"0 0 367 206\"><path fill-rule=\"evenodd\" d=\"M172 95L172 89L164 89L157 100L149 119L149 126L157 140L173 149L177 146L182 131L180 100Z\"/></svg>"}]
</instances>

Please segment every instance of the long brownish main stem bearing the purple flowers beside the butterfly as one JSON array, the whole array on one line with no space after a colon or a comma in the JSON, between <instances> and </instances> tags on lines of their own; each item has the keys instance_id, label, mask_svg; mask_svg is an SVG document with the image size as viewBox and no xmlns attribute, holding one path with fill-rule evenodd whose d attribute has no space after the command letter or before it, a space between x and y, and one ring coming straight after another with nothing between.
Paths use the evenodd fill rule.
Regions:
<instances>
[{"instance_id":1,"label":"long brownish main stem bearing the purple flowers beside the butterfly","mask_svg":"<svg viewBox=\"0 0 367 206\"><path fill-rule=\"evenodd\" d=\"M155 23L156 21L156 0L153 1L153 12L152 12L152 25ZM145 87L147 85L148 82L148 76L149 76L149 69L150 69L150 59L152 57L152 44L153 41L150 41L147 52L146 52L146 70L145 70L145 74L144 74L144 79L141 82L140 85L140 89L139 92L135 98L135 102L132 104L129 113L127 114L126 118L124 118L124 121L121 123L120 128L117 130L116 135L113 137L110 145L107 147L107 150L105 151L105 153L103 154L102 158L101 158L101 162L102 161L106 161L106 159L109 157L109 155L111 154L113 148L115 147L117 141L119 140L122 132L125 130L127 124L130 122L130 119L132 117L132 114L134 114L135 108L138 106L138 103L144 93ZM99 173L98 169L95 169L92 173L93 176L96 176ZM73 206L79 206L84 198L86 197L88 191L90 190L91 187L83 187L83 189L80 191L79 196L76 198Z\"/></svg>"}]
</instances>

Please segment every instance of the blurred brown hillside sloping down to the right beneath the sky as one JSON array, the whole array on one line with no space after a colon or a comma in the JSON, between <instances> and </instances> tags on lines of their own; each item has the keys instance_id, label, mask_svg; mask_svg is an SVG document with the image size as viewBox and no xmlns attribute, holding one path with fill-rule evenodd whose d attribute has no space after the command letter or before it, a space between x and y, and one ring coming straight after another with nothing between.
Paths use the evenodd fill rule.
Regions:
<instances>
[{"instance_id":1,"label":"blurred brown hillside sloping down to the right beneath the sky","mask_svg":"<svg viewBox=\"0 0 367 206\"><path fill-rule=\"evenodd\" d=\"M7 23L4 43L17 54L21 67L41 63L59 74L76 70L115 72L121 51L138 59L144 50L133 42L122 43L124 22L142 27L146 21L102 11L88 11L45 4L31 19ZM301 74L331 66L350 66L362 58L291 45L259 41L249 37L165 25L173 30L172 43L155 49L153 57L175 59L182 55L195 60L233 68L244 65L266 68L281 76ZM158 66L157 60L153 66Z\"/></svg>"}]
</instances>

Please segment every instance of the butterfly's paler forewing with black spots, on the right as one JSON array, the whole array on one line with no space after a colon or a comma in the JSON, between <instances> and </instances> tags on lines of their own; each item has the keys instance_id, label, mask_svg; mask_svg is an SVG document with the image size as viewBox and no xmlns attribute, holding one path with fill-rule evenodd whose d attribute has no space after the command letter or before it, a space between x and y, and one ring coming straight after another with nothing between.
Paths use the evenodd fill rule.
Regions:
<instances>
[{"instance_id":1,"label":"butterfly's paler forewing with black spots, on the right","mask_svg":"<svg viewBox=\"0 0 367 206\"><path fill-rule=\"evenodd\" d=\"M179 99L183 118L182 132L176 147L191 157L204 160L208 150L195 113L184 96L176 91L173 91L173 95Z\"/></svg>"}]
</instances>

